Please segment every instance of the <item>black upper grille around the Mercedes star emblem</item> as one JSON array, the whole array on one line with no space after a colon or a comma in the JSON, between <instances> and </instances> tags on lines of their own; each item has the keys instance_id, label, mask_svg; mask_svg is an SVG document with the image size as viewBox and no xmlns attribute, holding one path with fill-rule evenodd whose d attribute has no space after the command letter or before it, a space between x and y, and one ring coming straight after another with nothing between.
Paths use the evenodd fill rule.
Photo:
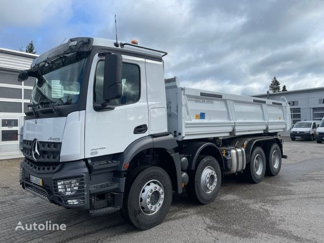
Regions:
<instances>
[{"instance_id":1,"label":"black upper grille around the Mercedes star emblem","mask_svg":"<svg viewBox=\"0 0 324 243\"><path fill-rule=\"evenodd\" d=\"M59 162L62 143L57 142L39 142L39 162ZM23 140L23 155L31 160L34 160L32 156L32 144L33 141Z\"/></svg>"}]
</instances>

